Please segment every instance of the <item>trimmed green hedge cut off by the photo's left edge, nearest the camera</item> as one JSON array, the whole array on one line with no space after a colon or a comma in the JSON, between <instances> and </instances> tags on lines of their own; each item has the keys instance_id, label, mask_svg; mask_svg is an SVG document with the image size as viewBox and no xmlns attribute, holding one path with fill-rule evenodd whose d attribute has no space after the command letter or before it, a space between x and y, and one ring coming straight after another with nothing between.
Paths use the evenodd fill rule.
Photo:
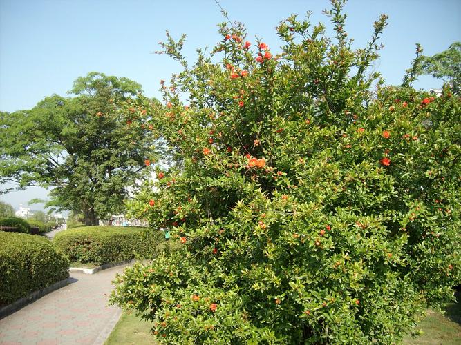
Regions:
<instances>
[{"instance_id":1,"label":"trimmed green hedge cut off by the photo's left edge, nearest the camera","mask_svg":"<svg viewBox=\"0 0 461 345\"><path fill-rule=\"evenodd\" d=\"M0 231L0 305L66 279L69 262L48 239Z\"/></svg>"}]
</instances>

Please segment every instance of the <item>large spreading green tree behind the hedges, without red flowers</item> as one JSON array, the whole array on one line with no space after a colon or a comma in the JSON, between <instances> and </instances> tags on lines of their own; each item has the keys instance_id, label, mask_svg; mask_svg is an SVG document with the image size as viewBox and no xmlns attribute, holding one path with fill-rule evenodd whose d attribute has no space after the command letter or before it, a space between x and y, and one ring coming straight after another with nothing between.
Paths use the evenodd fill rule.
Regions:
<instances>
[{"instance_id":1,"label":"large spreading green tree behind the hedges, without red flowers","mask_svg":"<svg viewBox=\"0 0 461 345\"><path fill-rule=\"evenodd\" d=\"M152 144L146 128L132 126L148 116L129 106L144 99L141 92L129 79L91 72L75 81L73 97L52 95L31 110L3 113L0 181L53 187L47 206L82 213L88 225L120 213Z\"/></svg>"}]
</instances>

